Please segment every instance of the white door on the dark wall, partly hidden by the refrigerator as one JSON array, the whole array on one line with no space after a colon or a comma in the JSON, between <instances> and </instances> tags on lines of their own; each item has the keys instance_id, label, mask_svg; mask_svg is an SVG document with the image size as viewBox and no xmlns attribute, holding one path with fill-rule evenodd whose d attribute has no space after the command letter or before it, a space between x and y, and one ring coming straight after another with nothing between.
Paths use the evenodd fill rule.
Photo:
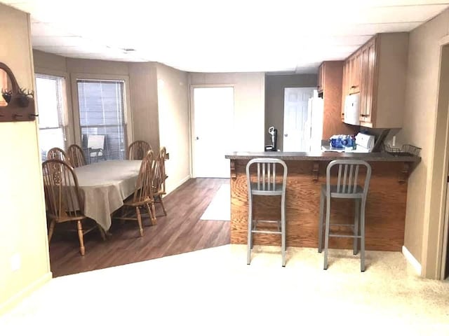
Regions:
<instances>
[{"instance_id":1,"label":"white door on the dark wall, partly hidden by the refrigerator","mask_svg":"<svg viewBox=\"0 0 449 336\"><path fill-rule=\"evenodd\" d=\"M283 151L304 152L307 149L304 141L309 98L314 95L314 87L286 87L284 89L283 107Z\"/></svg>"}]
</instances>

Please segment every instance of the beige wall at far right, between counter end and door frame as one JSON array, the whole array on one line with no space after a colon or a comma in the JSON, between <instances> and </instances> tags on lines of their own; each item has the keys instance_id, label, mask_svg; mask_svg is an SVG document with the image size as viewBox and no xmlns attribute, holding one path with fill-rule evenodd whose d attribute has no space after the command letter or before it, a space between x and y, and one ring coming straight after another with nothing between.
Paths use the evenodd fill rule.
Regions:
<instances>
[{"instance_id":1,"label":"beige wall at far right, between counter end and door frame","mask_svg":"<svg viewBox=\"0 0 449 336\"><path fill-rule=\"evenodd\" d=\"M429 230L429 188L436 129L439 41L449 32L448 22L449 11L446 10L410 33L406 108L403 129L397 134L399 144L413 144L422 148L422 162L417 165L408 181L404 242L419 262L425 261L422 256L423 253L426 254L423 246L427 246L427 241L423 237Z\"/></svg>"}]
</instances>

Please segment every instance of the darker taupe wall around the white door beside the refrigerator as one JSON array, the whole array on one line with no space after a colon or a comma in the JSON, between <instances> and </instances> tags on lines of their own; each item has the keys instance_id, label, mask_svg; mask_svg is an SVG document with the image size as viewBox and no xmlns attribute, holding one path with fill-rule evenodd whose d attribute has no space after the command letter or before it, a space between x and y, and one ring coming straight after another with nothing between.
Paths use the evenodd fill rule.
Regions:
<instances>
[{"instance_id":1,"label":"darker taupe wall around the white door beside the refrigerator","mask_svg":"<svg viewBox=\"0 0 449 336\"><path fill-rule=\"evenodd\" d=\"M283 148L283 89L286 87L316 87L316 74L265 76L265 144L271 144L268 127L278 130L278 148Z\"/></svg>"}]
</instances>

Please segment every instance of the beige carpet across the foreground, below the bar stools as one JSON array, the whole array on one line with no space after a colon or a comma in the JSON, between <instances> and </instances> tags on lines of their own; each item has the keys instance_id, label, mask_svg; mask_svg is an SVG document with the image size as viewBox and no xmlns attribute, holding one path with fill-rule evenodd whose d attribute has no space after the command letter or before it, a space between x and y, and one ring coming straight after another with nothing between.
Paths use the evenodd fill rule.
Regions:
<instances>
[{"instance_id":1,"label":"beige carpet across the foreground, below the bar stools","mask_svg":"<svg viewBox=\"0 0 449 336\"><path fill-rule=\"evenodd\" d=\"M338 257L338 258L337 258ZM401 253L227 245L53 279L0 335L449 335L449 283ZM43 333L42 333L43 332Z\"/></svg>"}]
</instances>

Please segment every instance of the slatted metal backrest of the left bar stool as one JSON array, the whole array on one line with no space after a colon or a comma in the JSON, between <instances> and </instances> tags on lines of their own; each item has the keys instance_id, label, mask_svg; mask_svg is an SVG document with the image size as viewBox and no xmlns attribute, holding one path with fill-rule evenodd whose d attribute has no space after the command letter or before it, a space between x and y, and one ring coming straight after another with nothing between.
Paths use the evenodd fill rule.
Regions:
<instances>
[{"instance_id":1,"label":"slatted metal backrest of the left bar stool","mask_svg":"<svg viewBox=\"0 0 449 336\"><path fill-rule=\"evenodd\" d=\"M252 165L257 165L257 174L251 174L250 167ZM281 172L279 172L279 169L281 169ZM279 192L280 190L285 193L287 183L286 162L275 158L256 158L250 160L246 165L246 179L248 193L251 193L253 190L267 195L276 191Z\"/></svg>"}]
</instances>

